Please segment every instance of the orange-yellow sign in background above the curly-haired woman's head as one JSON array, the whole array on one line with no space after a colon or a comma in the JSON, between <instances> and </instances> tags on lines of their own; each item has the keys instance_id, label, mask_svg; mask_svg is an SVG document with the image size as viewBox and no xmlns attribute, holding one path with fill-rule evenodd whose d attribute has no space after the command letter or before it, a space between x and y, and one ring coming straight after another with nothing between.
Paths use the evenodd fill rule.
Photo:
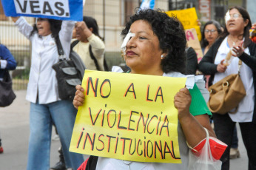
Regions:
<instances>
[{"instance_id":1,"label":"orange-yellow sign in background above the curly-haired woman's head","mask_svg":"<svg viewBox=\"0 0 256 170\"><path fill-rule=\"evenodd\" d=\"M188 8L185 10L169 10L166 12L168 16L176 16L183 24L184 30L195 28L198 39L201 41L202 35L200 27L198 26L198 16L195 7Z\"/></svg>"}]
</instances>

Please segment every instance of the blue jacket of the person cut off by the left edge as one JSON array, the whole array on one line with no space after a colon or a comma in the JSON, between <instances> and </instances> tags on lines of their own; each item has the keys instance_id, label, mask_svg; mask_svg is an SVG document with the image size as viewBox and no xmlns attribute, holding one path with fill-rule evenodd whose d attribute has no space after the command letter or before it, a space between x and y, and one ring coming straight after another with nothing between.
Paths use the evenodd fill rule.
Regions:
<instances>
[{"instance_id":1,"label":"blue jacket of the person cut off by the left edge","mask_svg":"<svg viewBox=\"0 0 256 170\"><path fill-rule=\"evenodd\" d=\"M0 44L0 60L7 61L7 66L5 69L1 69L0 67L0 78L4 77L4 73L6 72L6 70L16 69L17 64L13 55L10 53L7 47L5 47L3 44Z\"/></svg>"}]
</instances>

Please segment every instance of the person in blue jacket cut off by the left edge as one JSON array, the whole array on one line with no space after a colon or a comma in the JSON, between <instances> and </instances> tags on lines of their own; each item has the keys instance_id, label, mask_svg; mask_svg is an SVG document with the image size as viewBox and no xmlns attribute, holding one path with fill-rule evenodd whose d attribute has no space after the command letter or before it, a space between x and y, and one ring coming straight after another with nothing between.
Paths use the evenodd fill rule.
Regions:
<instances>
[{"instance_id":1,"label":"person in blue jacket cut off by the left edge","mask_svg":"<svg viewBox=\"0 0 256 170\"><path fill-rule=\"evenodd\" d=\"M14 70L17 67L17 63L13 55L3 44L0 44L0 81L3 81L4 75L8 70ZM0 92L1 93L1 92ZM0 154L4 152L1 146L0 136Z\"/></svg>"}]
</instances>

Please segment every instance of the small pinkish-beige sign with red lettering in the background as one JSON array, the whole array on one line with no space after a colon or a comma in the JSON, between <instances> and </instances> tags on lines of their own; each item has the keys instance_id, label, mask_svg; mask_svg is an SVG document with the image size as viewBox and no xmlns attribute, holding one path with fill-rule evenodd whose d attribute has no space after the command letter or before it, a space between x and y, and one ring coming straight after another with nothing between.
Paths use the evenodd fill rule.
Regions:
<instances>
[{"instance_id":1,"label":"small pinkish-beige sign with red lettering in the background","mask_svg":"<svg viewBox=\"0 0 256 170\"><path fill-rule=\"evenodd\" d=\"M188 47L192 47L198 55L198 63L203 58L201 44L198 40L195 28L185 30Z\"/></svg>"}]
</instances>

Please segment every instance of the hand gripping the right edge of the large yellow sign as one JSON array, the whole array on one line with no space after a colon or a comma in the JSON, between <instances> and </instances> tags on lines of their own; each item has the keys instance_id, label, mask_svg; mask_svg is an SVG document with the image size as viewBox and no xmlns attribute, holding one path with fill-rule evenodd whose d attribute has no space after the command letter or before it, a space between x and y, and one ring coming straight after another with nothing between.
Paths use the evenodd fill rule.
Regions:
<instances>
[{"instance_id":1,"label":"hand gripping the right edge of the large yellow sign","mask_svg":"<svg viewBox=\"0 0 256 170\"><path fill-rule=\"evenodd\" d=\"M178 119L181 120L182 118L189 115L189 106L191 103L191 95L189 89L182 88L174 97L174 106L178 109Z\"/></svg>"}]
</instances>

